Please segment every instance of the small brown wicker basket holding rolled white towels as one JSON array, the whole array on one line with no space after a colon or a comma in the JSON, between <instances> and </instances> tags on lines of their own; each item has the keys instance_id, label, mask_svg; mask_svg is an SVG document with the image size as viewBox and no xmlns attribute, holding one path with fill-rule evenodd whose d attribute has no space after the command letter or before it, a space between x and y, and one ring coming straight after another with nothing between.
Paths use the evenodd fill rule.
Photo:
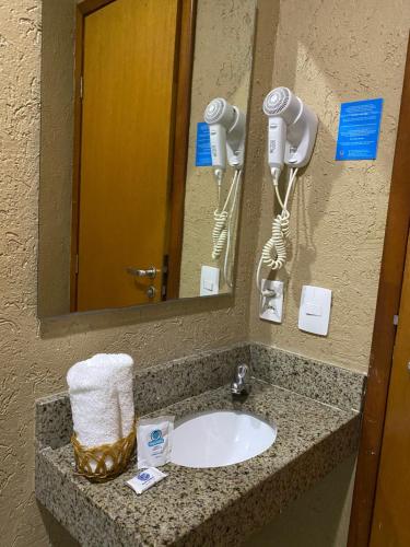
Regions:
<instances>
[{"instance_id":1,"label":"small brown wicker basket holding rolled white towels","mask_svg":"<svg viewBox=\"0 0 410 547\"><path fill-rule=\"evenodd\" d=\"M127 468L136 445L136 423L129 435L113 444L85 447L79 442L75 433L71 437L71 444L74 449L78 475L102 482L117 477Z\"/></svg>"}]
</instances>

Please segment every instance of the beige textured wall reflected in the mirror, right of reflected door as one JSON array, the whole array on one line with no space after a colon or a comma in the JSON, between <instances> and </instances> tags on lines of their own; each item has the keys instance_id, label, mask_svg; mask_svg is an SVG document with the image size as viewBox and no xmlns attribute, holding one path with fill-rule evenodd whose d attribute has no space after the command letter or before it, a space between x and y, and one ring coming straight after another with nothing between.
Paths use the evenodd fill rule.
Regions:
<instances>
[{"instance_id":1,"label":"beige textured wall reflected in the mirror, right of reflected door","mask_svg":"<svg viewBox=\"0 0 410 547\"><path fill-rule=\"evenodd\" d=\"M201 266L221 268L220 292L230 292L223 282L223 256L212 260L213 211L216 184L211 167L196 167L197 123L203 121L207 104L226 98L247 110L251 73L256 0L199 0L195 62L192 73L188 168L184 212L184 244L179 296L197 296ZM233 170L229 168L222 187L225 197ZM235 234L233 234L235 235ZM235 247L235 237L232 247ZM232 263L231 263L232 264Z\"/></svg>"}]
</instances>

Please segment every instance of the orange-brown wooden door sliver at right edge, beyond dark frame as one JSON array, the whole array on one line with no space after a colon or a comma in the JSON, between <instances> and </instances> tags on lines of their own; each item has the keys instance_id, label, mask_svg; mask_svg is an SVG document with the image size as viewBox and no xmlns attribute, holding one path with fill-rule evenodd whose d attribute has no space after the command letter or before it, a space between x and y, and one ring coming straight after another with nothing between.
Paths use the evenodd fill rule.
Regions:
<instances>
[{"instance_id":1,"label":"orange-brown wooden door sliver at right edge, beyond dark frame","mask_svg":"<svg viewBox=\"0 0 410 547\"><path fill-rule=\"evenodd\" d=\"M377 477L371 547L410 545L410 240Z\"/></svg>"}]
</instances>

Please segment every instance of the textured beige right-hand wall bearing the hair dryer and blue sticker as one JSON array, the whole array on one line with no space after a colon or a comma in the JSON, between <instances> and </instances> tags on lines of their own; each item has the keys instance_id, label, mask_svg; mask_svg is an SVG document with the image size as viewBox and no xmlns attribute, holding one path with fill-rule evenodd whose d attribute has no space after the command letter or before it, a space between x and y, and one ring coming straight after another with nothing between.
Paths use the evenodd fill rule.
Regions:
<instances>
[{"instance_id":1,"label":"textured beige right-hand wall bearing the hair dryer and blue sticker","mask_svg":"<svg viewBox=\"0 0 410 547\"><path fill-rule=\"evenodd\" d=\"M367 369L409 24L406 0L280 3L272 86L293 89L320 126L292 202L284 321L260 321L253 291L255 340ZM340 102L367 97L385 98L377 161L335 162ZM265 176L258 254L270 235L271 196ZM303 284L333 291L327 338L297 328Z\"/></svg>"}]
</instances>

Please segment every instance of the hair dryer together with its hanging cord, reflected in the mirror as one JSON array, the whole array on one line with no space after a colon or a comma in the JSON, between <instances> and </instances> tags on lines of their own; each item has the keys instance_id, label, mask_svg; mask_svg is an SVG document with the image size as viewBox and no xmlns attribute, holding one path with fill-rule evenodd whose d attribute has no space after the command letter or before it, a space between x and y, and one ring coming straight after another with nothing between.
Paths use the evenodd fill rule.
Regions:
<instances>
[{"instance_id":1,"label":"hair dryer together with its hanging cord, reflected in the mirror","mask_svg":"<svg viewBox=\"0 0 410 547\"><path fill-rule=\"evenodd\" d=\"M227 287L233 287L231 260L232 233L237 222L237 201L245 152L245 114L224 98L214 98L204 110L209 125L213 174L216 182L218 207L213 212L212 259L223 256L223 276ZM224 191L227 164L234 170L231 184Z\"/></svg>"}]
</instances>

